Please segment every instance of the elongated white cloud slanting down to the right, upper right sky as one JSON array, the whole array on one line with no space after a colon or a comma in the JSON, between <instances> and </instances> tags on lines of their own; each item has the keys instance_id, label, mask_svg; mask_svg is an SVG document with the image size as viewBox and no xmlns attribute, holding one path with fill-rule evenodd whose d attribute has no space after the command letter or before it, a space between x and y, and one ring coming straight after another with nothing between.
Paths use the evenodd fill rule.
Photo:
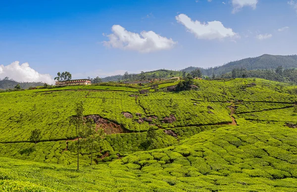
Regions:
<instances>
[{"instance_id":1,"label":"elongated white cloud slanting down to the right, upper right sky","mask_svg":"<svg viewBox=\"0 0 297 192\"><path fill-rule=\"evenodd\" d=\"M189 32L193 33L198 39L224 39L228 37L238 37L231 28L225 28L220 21L210 21L201 23L200 21L192 21L185 14L179 14L175 19L183 24Z\"/></svg>"}]
</instances>

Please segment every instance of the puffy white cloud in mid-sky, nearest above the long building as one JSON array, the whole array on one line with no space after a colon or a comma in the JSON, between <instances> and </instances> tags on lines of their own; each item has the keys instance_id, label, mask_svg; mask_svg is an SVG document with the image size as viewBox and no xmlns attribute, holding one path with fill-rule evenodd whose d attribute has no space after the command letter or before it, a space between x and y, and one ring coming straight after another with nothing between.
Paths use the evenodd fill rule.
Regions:
<instances>
[{"instance_id":1,"label":"puffy white cloud in mid-sky, nearest above the long building","mask_svg":"<svg viewBox=\"0 0 297 192\"><path fill-rule=\"evenodd\" d=\"M120 25L113 25L112 34L107 35L109 41L103 44L107 47L136 50L139 52L153 52L171 49L177 42L167 39L153 31L143 31L140 34L127 31Z\"/></svg>"}]
</instances>

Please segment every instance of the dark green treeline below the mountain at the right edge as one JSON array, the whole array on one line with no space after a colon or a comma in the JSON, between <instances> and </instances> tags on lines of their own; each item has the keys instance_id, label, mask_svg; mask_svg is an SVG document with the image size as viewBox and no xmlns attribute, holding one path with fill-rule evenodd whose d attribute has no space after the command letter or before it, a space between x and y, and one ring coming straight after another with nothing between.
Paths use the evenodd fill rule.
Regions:
<instances>
[{"instance_id":1,"label":"dark green treeline below the mountain at the right edge","mask_svg":"<svg viewBox=\"0 0 297 192\"><path fill-rule=\"evenodd\" d=\"M225 73L222 78L262 78L271 81L279 81L285 83L297 83L297 69L283 69L282 66L278 66L274 69L258 69L247 70L245 68L235 68L229 73Z\"/></svg>"}]
</instances>

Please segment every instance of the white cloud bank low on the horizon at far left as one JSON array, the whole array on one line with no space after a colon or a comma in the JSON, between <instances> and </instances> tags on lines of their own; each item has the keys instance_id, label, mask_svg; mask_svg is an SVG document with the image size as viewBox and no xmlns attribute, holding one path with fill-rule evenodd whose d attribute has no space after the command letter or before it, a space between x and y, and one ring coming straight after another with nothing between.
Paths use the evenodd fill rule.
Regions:
<instances>
[{"instance_id":1,"label":"white cloud bank low on the horizon at far left","mask_svg":"<svg viewBox=\"0 0 297 192\"><path fill-rule=\"evenodd\" d=\"M40 74L29 66L29 63L19 64L14 61L9 65L0 65L0 78L9 77L19 82L46 82L53 84L49 74Z\"/></svg>"}]
</instances>

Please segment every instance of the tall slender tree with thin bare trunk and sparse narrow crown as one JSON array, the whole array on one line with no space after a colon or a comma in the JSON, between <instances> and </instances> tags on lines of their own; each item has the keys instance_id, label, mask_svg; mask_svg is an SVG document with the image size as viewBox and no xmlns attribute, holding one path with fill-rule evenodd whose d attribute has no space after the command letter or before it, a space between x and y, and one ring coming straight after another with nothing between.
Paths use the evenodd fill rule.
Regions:
<instances>
[{"instance_id":1,"label":"tall slender tree with thin bare trunk and sparse narrow crown","mask_svg":"<svg viewBox=\"0 0 297 192\"><path fill-rule=\"evenodd\" d=\"M75 115L72 116L69 121L70 124L75 126L75 130L76 130L77 170L79 170L79 151L80 151L79 139L81 138L81 135L82 135L81 130L85 124L84 110L85 109L84 109L83 101L76 103L76 106L74 109Z\"/></svg>"}]
</instances>

